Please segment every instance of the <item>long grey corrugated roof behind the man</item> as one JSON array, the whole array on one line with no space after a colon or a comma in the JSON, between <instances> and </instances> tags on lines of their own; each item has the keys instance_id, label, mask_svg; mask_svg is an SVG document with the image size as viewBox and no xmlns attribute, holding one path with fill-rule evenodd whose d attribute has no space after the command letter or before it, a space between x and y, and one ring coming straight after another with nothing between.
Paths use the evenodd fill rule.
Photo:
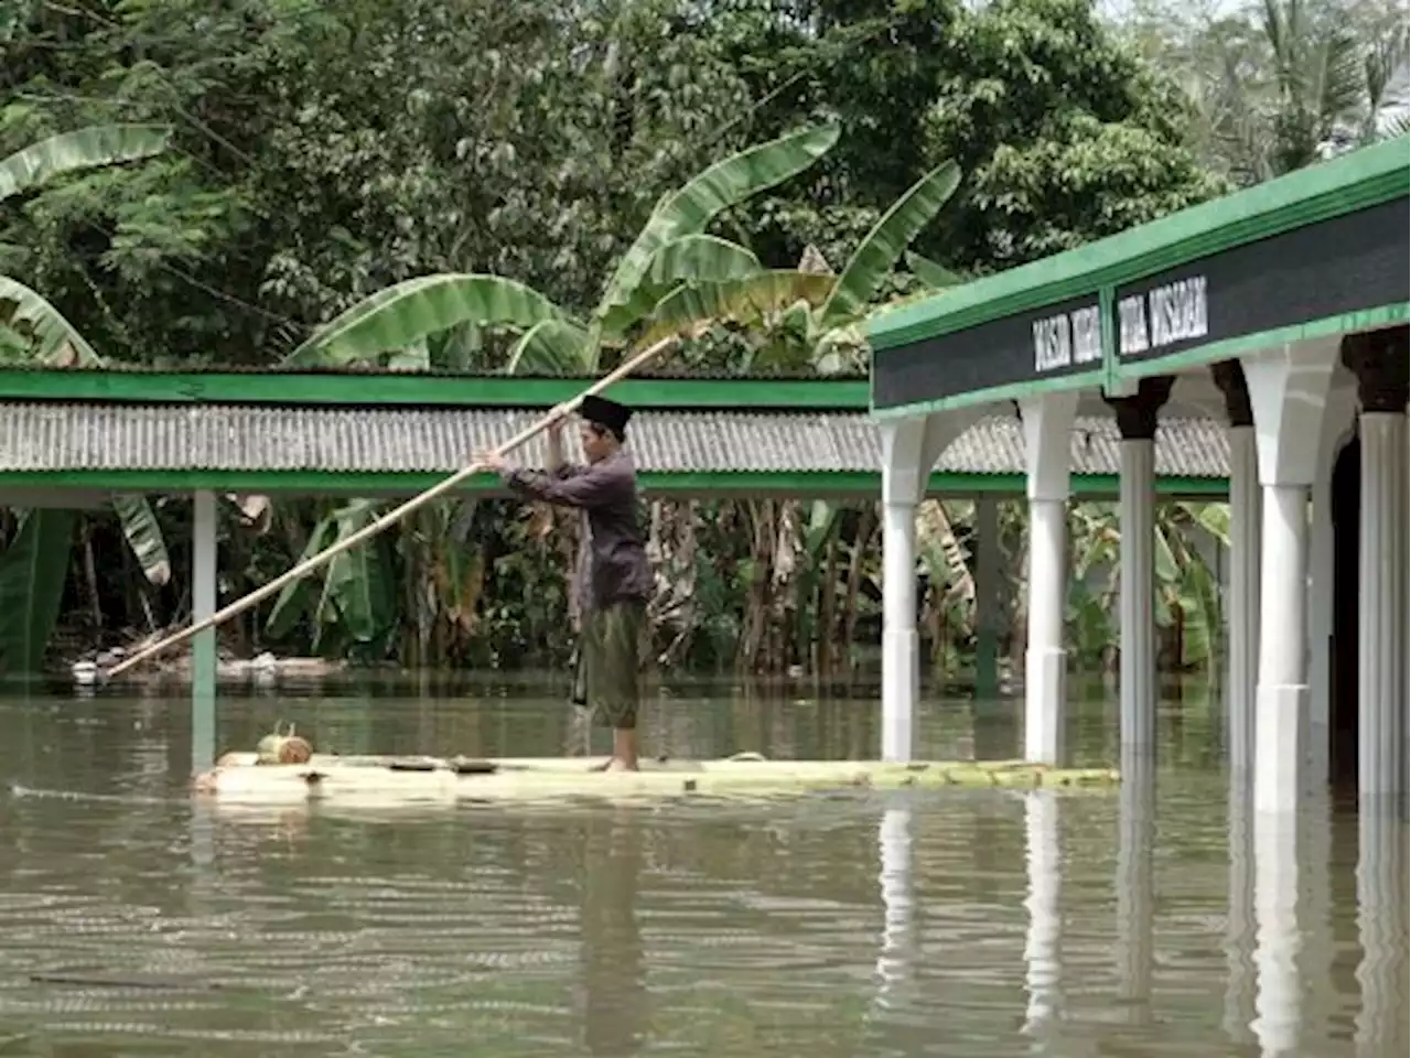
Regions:
<instances>
[{"instance_id":1,"label":"long grey corrugated roof behind the man","mask_svg":"<svg viewBox=\"0 0 1411 1058\"><path fill-rule=\"evenodd\" d=\"M0 405L0 471L281 470L452 473L477 449L502 444L542 412L504 409L274 408L251 405ZM632 451L645 471L875 471L876 425L862 413L638 412ZM542 440L521 458L543 458ZM1225 429L1212 419L1163 419L1163 477L1225 477ZM1112 419L1081 418L1078 474L1118 473ZM941 457L940 470L1023 474L1013 418L981 420Z\"/></svg>"}]
</instances>

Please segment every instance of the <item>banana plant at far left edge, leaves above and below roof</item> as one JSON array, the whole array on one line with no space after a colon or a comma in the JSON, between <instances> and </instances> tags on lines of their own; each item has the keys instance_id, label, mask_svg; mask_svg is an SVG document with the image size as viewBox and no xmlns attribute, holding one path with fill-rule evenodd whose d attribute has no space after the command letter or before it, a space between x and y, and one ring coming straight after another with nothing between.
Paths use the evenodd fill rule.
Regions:
<instances>
[{"instance_id":1,"label":"banana plant at far left edge, leaves above and below roof","mask_svg":"<svg viewBox=\"0 0 1411 1058\"><path fill-rule=\"evenodd\" d=\"M0 202L38 190L75 172L140 161L166 150L171 130L157 126L92 126L41 140L0 159ZM102 367L78 329L41 293L0 275L0 360L63 367ZM140 497L114 499L123 533L148 580L165 584L171 561L151 505ZM0 616L0 671L38 669L58 619L73 539L73 513L28 511L0 554L4 598L27 600Z\"/></svg>"}]
</instances>

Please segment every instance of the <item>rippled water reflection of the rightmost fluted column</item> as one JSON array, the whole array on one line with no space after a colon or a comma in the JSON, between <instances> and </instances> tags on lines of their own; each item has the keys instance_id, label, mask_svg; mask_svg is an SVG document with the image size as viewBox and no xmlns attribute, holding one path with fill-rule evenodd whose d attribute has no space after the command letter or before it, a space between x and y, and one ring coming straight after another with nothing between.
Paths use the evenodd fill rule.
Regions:
<instances>
[{"instance_id":1,"label":"rippled water reflection of the rightmost fluted column","mask_svg":"<svg viewBox=\"0 0 1411 1058\"><path fill-rule=\"evenodd\" d=\"M1411 917L1411 842L1390 807L1363 804L1357 818L1357 1058L1401 1058L1411 1047L1401 1007L1407 995L1407 920Z\"/></svg>"}]
</instances>

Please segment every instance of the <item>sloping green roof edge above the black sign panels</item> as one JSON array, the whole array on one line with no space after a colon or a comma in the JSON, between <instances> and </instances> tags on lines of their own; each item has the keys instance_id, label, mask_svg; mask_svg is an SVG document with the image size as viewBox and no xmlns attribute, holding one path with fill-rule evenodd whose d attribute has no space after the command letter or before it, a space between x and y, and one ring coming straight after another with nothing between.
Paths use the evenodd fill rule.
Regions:
<instances>
[{"instance_id":1,"label":"sloping green roof edge above the black sign panels","mask_svg":"<svg viewBox=\"0 0 1411 1058\"><path fill-rule=\"evenodd\" d=\"M1096 295L1222 250L1377 206L1411 192L1411 137L1363 147L1115 236L904 305L864 323L875 353L1054 302Z\"/></svg>"}]
</instances>

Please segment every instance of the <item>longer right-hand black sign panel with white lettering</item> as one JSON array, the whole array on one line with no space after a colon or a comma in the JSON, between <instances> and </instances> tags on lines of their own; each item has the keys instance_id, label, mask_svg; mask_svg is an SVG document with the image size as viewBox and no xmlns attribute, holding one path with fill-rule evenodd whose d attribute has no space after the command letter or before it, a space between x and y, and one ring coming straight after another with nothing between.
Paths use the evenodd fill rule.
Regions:
<instances>
[{"instance_id":1,"label":"longer right-hand black sign panel with white lettering","mask_svg":"<svg viewBox=\"0 0 1411 1058\"><path fill-rule=\"evenodd\" d=\"M1153 360L1411 300L1408 233L1411 197L1403 197L1119 286L1118 357Z\"/></svg>"}]
</instances>

